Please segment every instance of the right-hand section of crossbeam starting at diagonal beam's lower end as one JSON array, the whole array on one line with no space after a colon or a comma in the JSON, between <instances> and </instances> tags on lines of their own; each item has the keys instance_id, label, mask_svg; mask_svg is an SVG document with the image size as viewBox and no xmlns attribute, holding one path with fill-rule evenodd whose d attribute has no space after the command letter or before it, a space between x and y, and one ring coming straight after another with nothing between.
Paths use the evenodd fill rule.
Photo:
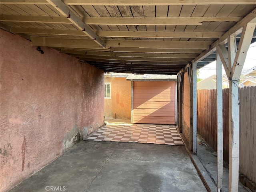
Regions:
<instances>
[{"instance_id":1,"label":"right-hand section of crossbeam starting at diagonal beam's lower end","mask_svg":"<svg viewBox=\"0 0 256 192\"><path fill-rule=\"evenodd\" d=\"M209 49L211 41L106 40L108 47Z\"/></svg>"}]
</instances>

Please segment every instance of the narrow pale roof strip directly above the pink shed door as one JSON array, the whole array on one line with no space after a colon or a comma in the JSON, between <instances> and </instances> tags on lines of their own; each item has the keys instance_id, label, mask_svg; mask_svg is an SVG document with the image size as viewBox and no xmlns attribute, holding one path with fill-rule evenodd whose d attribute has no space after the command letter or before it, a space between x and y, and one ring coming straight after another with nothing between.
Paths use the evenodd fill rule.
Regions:
<instances>
[{"instance_id":1,"label":"narrow pale roof strip directly above the pink shed door","mask_svg":"<svg viewBox=\"0 0 256 192\"><path fill-rule=\"evenodd\" d=\"M176 81L176 75L153 75L153 74L129 74L126 78L128 81Z\"/></svg>"}]
</instances>

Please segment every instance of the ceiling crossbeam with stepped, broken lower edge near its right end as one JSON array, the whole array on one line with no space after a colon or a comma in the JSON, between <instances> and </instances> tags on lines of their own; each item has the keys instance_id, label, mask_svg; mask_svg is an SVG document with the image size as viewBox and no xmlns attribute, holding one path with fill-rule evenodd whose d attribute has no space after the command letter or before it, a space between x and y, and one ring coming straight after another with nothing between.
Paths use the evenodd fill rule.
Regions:
<instances>
[{"instance_id":1,"label":"ceiling crossbeam with stepped, broken lower edge near its right end","mask_svg":"<svg viewBox=\"0 0 256 192\"><path fill-rule=\"evenodd\" d=\"M202 25L203 22L238 22L242 17L84 17L89 25Z\"/></svg>"}]
</instances>

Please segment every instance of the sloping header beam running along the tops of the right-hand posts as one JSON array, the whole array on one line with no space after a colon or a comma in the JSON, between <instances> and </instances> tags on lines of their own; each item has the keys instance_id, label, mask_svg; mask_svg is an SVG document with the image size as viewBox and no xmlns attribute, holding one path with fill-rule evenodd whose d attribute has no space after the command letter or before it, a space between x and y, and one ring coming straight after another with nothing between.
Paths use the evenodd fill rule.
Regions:
<instances>
[{"instance_id":1,"label":"sloping header beam running along the tops of the right-hand posts","mask_svg":"<svg viewBox=\"0 0 256 192\"><path fill-rule=\"evenodd\" d=\"M208 50L204 50L202 54L197 56L192 62L198 62L208 55L212 54L216 51L216 47L220 44L226 44L228 41L228 36L237 36L242 33L242 28L244 25L250 22L256 22L256 9L250 12L247 16L245 16L242 20L240 20L237 24L235 24L230 30L228 30L225 34L223 34L218 40L216 40Z\"/></svg>"}]
</instances>

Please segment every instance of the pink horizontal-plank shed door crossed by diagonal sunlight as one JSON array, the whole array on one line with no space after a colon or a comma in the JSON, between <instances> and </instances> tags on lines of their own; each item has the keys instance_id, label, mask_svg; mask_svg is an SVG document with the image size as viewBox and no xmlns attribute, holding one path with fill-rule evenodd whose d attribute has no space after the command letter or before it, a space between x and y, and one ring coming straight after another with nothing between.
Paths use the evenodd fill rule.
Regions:
<instances>
[{"instance_id":1,"label":"pink horizontal-plank shed door crossed by diagonal sunlight","mask_svg":"<svg viewBox=\"0 0 256 192\"><path fill-rule=\"evenodd\" d=\"M175 124L175 81L133 82L133 123Z\"/></svg>"}]
</instances>

